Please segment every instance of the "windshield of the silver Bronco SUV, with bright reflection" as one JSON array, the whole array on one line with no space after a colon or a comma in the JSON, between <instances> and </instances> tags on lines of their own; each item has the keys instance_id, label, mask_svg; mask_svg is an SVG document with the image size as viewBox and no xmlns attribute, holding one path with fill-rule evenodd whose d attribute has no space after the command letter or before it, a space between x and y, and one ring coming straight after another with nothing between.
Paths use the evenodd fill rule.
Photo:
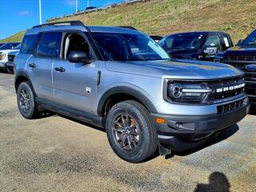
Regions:
<instances>
[{"instance_id":1,"label":"windshield of the silver Bronco SUV, with bright reflection","mask_svg":"<svg viewBox=\"0 0 256 192\"><path fill-rule=\"evenodd\" d=\"M99 51L110 61L170 59L158 43L143 34L92 33Z\"/></svg>"}]
</instances>

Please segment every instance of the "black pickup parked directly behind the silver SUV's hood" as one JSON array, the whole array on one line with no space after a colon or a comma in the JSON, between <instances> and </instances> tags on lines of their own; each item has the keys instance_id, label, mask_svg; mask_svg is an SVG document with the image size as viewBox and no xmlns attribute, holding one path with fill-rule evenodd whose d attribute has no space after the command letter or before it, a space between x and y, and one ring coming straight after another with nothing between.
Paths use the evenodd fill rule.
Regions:
<instances>
[{"instance_id":1,"label":"black pickup parked directly behind the silver SUV's hood","mask_svg":"<svg viewBox=\"0 0 256 192\"><path fill-rule=\"evenodd\" d=\"M170 34L158 43L172 58L205 61L214 61L214 57L219 51L233 46L229 34L217 31Z\"/></svg>"}]
</instances>

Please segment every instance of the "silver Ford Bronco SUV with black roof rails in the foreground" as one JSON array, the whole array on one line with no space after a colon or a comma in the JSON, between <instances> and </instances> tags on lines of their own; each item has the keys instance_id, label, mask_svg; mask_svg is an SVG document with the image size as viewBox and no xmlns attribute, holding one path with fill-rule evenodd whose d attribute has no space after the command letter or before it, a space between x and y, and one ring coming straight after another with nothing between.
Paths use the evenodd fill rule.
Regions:
<instances>
[{"instance_id":1,"label":"silver Ford Bronco SUV with black roof rails in the foreground","mask_svg":"<svg viewBox=\"0 0 256 192\"><path fill-rule=\"evenodd\" d=\"M189 150L246 116L243 72L174 60L138 30L58 22L27 30L15 57L18 109L106 128L127 162ZM72 131L72 130L70 130Z\"/></svg>"}]
</instances>

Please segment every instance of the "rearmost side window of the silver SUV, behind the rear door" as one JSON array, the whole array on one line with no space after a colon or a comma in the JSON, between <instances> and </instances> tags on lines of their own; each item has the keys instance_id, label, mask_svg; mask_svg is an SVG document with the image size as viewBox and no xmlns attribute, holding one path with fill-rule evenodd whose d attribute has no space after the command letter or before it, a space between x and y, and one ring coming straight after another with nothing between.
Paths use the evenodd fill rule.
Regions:
<instances>
[{"instance_id":1,"label":"rearmost side window of the silver SUV, behind the rear door","mask_svg":"<svg viewBox=\"0 0 256 192\"><path fill-rule=\"evenodd\" d=\"M22 41L21 54L33 54L41 34L25 35Z\"/></svg>"}]
</instances>

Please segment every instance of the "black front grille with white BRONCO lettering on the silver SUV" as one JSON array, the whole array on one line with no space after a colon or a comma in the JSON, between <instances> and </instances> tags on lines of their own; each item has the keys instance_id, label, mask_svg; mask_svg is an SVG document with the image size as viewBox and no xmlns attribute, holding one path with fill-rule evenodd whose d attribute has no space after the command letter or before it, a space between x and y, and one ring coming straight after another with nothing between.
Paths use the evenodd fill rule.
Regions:
<instances>
[{"instance_id":1,"label":"black front grille with white BRONCO lettering on the silver SUV","mask_svg":"<svg viewBox=\"0 0 256 192\"><path fill-rule=\"evenodd\" d=\"M242 94L244 92L244 87L240 87L238 89L234 90L228 90L228 91L223 91L218 93L219 88L223 87L230 87L230 86L238 86L245 83L243 77L236 77L236 78L229 78L229 79L220 79L214 82L207 82L207 86L213 90L212 93L209 94L207 101L216 101L218 99L223 99L223 98L231 98L234 97L238 94Z\"/></svg>"}]
</instances>

